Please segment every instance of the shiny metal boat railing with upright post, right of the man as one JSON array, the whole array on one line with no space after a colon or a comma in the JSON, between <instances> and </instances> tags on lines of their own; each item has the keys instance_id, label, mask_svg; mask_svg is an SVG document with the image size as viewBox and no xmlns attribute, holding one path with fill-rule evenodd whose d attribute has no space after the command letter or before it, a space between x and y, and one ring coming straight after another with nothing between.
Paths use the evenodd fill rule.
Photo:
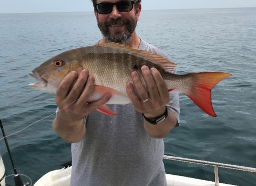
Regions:
<instances>
[{"instance_id":1,"label":"shiny metal boat railing with upright post, right of the man","mask_svg":"<svg viewBox=\"0 0 256 186\"><path fill-rule=\"evenodd\" d=\"M164 155L164 159L170 159L170 160L176 160L176 161L180 161L180 162L187 162L187 163L195 163L195 164L201 164L201 165L214 166L215 185L216 186L219 186L218 167L231 168L231 169L235 169L235 170L239 170L239 171L247 171L247 172L255 172L256 173L256 168L252 168L252 167L244 167L244 166L231 165L231 164L207 162L207 161L203 161L203 160L181 158L181 157L167 156L167 155Z\"/></svg>"}]
</instances>

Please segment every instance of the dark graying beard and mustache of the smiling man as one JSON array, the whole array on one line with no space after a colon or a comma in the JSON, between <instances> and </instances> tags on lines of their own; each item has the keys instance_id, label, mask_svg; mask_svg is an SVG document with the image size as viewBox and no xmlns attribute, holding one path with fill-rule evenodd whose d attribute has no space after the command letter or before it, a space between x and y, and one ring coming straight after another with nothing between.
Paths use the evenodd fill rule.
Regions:
<instances>
[{"instance_id":1,"label":"dark graying beard and mustache of the smiling man","mask_svg":"<svg viewBox=\"0 0 256 186\"><path fill-rule=\"evenodd\" d=\"M99 22L99 20L97 19L97 23L103 37L106 38L107 42L125 44L126 41L131 38L132 33L137 26L137 17L135 16L135 18L132 20L111 18L109 21L106 21L104 23ZM124 33L122 29L116 30L112 34L110 33L109 26L121 26L122 24L125 25Z\"/></svg>"}]
</instances>

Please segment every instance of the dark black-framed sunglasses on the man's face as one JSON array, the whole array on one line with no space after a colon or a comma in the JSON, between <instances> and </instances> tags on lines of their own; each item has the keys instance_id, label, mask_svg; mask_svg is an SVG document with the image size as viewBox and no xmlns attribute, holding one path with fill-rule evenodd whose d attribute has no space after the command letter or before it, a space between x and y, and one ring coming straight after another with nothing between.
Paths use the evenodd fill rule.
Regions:
<instances>
[{"instance_id":1,"label":"dark black-framed sunglasses on the man's face","mask_svg":"<svg viewBox=\"0 0 256 186\"><path fill-rule=\"evenodd\" d=\"M119 1L117 3L99 3L95 4L94 8L99 14L110 14L113 10L113 6L115 5L119 12L130 12L133 9L133 4L137 2L135 1Z\"/></svg>"}]
</instances>

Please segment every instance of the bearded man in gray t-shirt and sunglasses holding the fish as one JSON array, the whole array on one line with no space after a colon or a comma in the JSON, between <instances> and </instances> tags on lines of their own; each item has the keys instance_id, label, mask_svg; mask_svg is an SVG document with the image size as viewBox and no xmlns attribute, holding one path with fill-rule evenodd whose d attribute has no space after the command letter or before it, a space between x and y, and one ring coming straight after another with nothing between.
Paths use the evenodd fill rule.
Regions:
<instances>
[{"instance_id":1,"label":"bearded man in gray t-shirt and sunglasses holding the fish","mask_svg":"<svg viewBox=\"0 0 256 186\"><path fill-rule=\"evenodd\" d=\"M124 43L171 60L167 54L137 36L135 27L141 12L141 0L94 0L93 5L103 35L99 44ZM118 115L106 116L95 109L106 104L111 95L86 103L94 87L94 77L89 73L87 70L80 74L70 72L56 95L59 112L53 121L53 129L63 140L72 143L70 185L166 185L163 138L179 125L178 94L169 94L156 69L142 66L149 93L138 73L132 72L133 84L126 84L132 104L110 105Z\"/></svg>"}]
</instances>

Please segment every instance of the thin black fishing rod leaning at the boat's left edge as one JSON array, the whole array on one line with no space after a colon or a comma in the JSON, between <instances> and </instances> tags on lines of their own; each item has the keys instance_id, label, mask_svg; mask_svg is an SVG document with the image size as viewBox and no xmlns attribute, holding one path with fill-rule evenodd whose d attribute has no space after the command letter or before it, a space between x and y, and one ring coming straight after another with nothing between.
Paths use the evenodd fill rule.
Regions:
<instances>
[{"instance_id":1,"label":"thin black fishing rod leaning at the boat's left edge","mask_svg":"<svg viewBox=\"0 0 256 186\"><path fill-rule=\"evenodd\" d=\"M29 183L23 183L22 182L22 179L20 177L20 175L18 174L17 170L16 170L16 167L13 163L13 159L12 159L12 155L11 155L11 150L10 150L10 147L8 145L8 142L7 142L7 139L5 137L5 132L4 132L4 127L3 127L3 124L2 124L2 121L0 119L0 128L2 130L2 133L3 133L3 137L4 137L4 141L5 141L5 145L6 145L6 148L7 148L7 151L8 151L8 154L9 154L9 157L11 159L11 163L12 163L12 168L13 168L13 171L14 171L14 183L15 183L15 186L26 186L28 185ZM1 184L0 184L1 185Z\"/></svg>"}]
</instances>

